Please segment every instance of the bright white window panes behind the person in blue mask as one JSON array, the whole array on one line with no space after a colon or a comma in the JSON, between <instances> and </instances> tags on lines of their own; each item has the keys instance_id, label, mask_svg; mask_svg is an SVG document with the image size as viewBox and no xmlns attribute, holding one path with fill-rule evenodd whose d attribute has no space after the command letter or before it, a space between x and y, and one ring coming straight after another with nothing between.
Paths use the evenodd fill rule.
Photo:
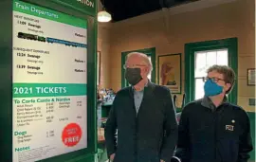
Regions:
<instances>
[{"instance_id":1,"label":"bright white window panes behind the person in blue mask","mask_svg":"<svg viewBox=\"0 0 256 162\"><path fill-rule=\"evenodd\" d=\"M204 97L203 77L207 76L207 69L213 64L229 65L228 49L194 52L194 82L195 99Z\"/></svg>"}]
</instances>

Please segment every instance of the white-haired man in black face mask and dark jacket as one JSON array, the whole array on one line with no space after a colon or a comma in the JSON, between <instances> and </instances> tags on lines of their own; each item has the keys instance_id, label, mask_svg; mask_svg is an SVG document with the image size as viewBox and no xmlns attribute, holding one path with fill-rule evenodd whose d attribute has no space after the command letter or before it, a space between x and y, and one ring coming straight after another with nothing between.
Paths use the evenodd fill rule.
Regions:
<instances>
[{"instance_id":1,"label":"white-haired man in black face mask and dark jacket","mask_svg":"<svg viewBox=\"0 0 256 162\"><path fill-rule=\"evenodd\" d=\"M148 80L152 63L145 54L130 53L124 68L131 86L117 93L105 127L110 160L170 162L177 140L170 90Z\"/></svg>"}]
</instances>

